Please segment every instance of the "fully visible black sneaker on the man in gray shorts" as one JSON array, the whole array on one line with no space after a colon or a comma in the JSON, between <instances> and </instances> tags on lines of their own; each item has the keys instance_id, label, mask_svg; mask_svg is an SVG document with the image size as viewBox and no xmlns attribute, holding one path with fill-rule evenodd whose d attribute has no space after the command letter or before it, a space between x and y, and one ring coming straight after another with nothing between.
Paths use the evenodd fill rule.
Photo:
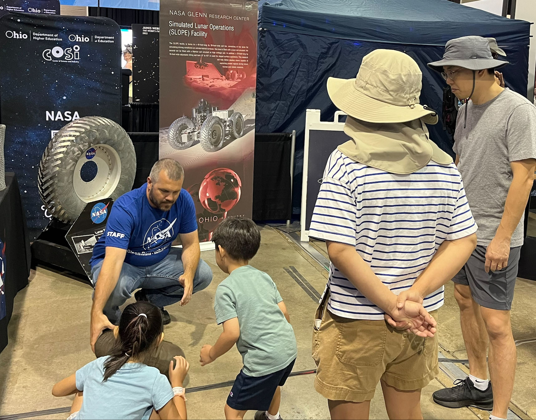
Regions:
<instances>
[{"instance_id":1,"label":"fully visible black sneaker on the man in gray shorts","mask_svg":"<svg viewBox=\"0 0 536 420\"><path fill-rule=\"evenodd\" d=\"M492 382L486 391L480 391L469 377L456 379L452 388L443 388L432 394L434 402L443 407L476 407L481 410L493 409Z\"/></svg>"}]
</instances>

